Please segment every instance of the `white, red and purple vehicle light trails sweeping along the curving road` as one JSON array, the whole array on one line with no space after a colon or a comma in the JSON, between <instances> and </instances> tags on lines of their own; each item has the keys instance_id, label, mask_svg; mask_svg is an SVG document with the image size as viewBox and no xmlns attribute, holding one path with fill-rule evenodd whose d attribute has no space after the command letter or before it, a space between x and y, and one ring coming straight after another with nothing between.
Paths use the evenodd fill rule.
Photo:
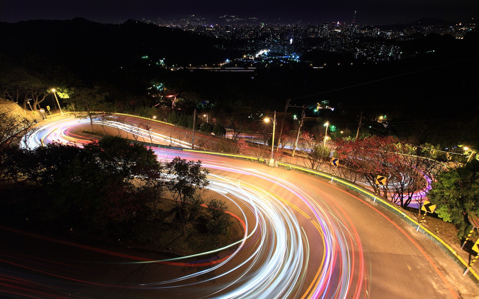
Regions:
<instances>
[{"instance_id":1,"label":"white, red and purple vehicle light trails sweeping along the curving road","mask_svg":"<svg viewBox=\"0 0 479 299\"><path fill-rule=\"evenodd\" d=\"M91 139L76 132L89 125L88 120L73 118L49 122L27 136L23 144L30 148L41 146L40 139L50 134L47 140L43 140L45 144L59 142L82 146ZM104 125L125 132L139 129L134 124L115 121ZM52 132L54 129L57 130ZM141 138L149 141L148 131L139 129L138 132ZM158 133L152 132L151 136L154 143L171 141L168 136ZM174 142L182 144L179 140ZM175 156L202 160L203 166L210 170L209 189L224 196L230 210L239 210L236 214L245 222L246 231L236 244L238 248L231 250L231 245L219 248L215 252L226 256L224 260L196 271L186 271L189 273L184 275L118 284L107 277L79 281L73 273L69 279L76 281L76 286L91 284L105 288L156 289L159 294L177 292L178 298L182 298L180 295L191 298L188 295L190 292L201 294L201 298L217 299L367 297L363 279L366 267L354 225L338 217L342 211L338 212L337 206L331 206L331 202L322 199L315 190L302 186L301 182L291 182L288 177L277 177L267 169L245 169L235 160L156 147L152 149L165 162ZM134 268L174 261L186 265L203 263L208 259L198 261L197 258L211 253L145 262L119 261L115 264ZM176 264L162 265L167 269L175 266L178 267ZM209 283L213 281L221 283L211 286Z\"/></svg>"}]
</instances>

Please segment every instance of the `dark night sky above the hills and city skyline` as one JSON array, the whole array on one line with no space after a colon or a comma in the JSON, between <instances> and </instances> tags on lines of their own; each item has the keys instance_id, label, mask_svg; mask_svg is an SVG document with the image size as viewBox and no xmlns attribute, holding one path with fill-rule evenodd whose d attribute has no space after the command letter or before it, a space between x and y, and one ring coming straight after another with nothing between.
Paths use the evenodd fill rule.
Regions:
<instances>
[{"instance_id":1,"label":"dark night sky above the hills and city skyline","mask_svg":"<svg viewBox=\"0 0 479 299\"><path fill-rule=\"evenodd\" d=\"M0 21L72 19L117 23L127 19L179 20L181 15L215 18L228 14L273 23L351 22L409 23L421 17L467 22L479 11L477 0L342 0L342 1L161 1L161 0L0 0Z\"/></svg>"}]
</instances>

